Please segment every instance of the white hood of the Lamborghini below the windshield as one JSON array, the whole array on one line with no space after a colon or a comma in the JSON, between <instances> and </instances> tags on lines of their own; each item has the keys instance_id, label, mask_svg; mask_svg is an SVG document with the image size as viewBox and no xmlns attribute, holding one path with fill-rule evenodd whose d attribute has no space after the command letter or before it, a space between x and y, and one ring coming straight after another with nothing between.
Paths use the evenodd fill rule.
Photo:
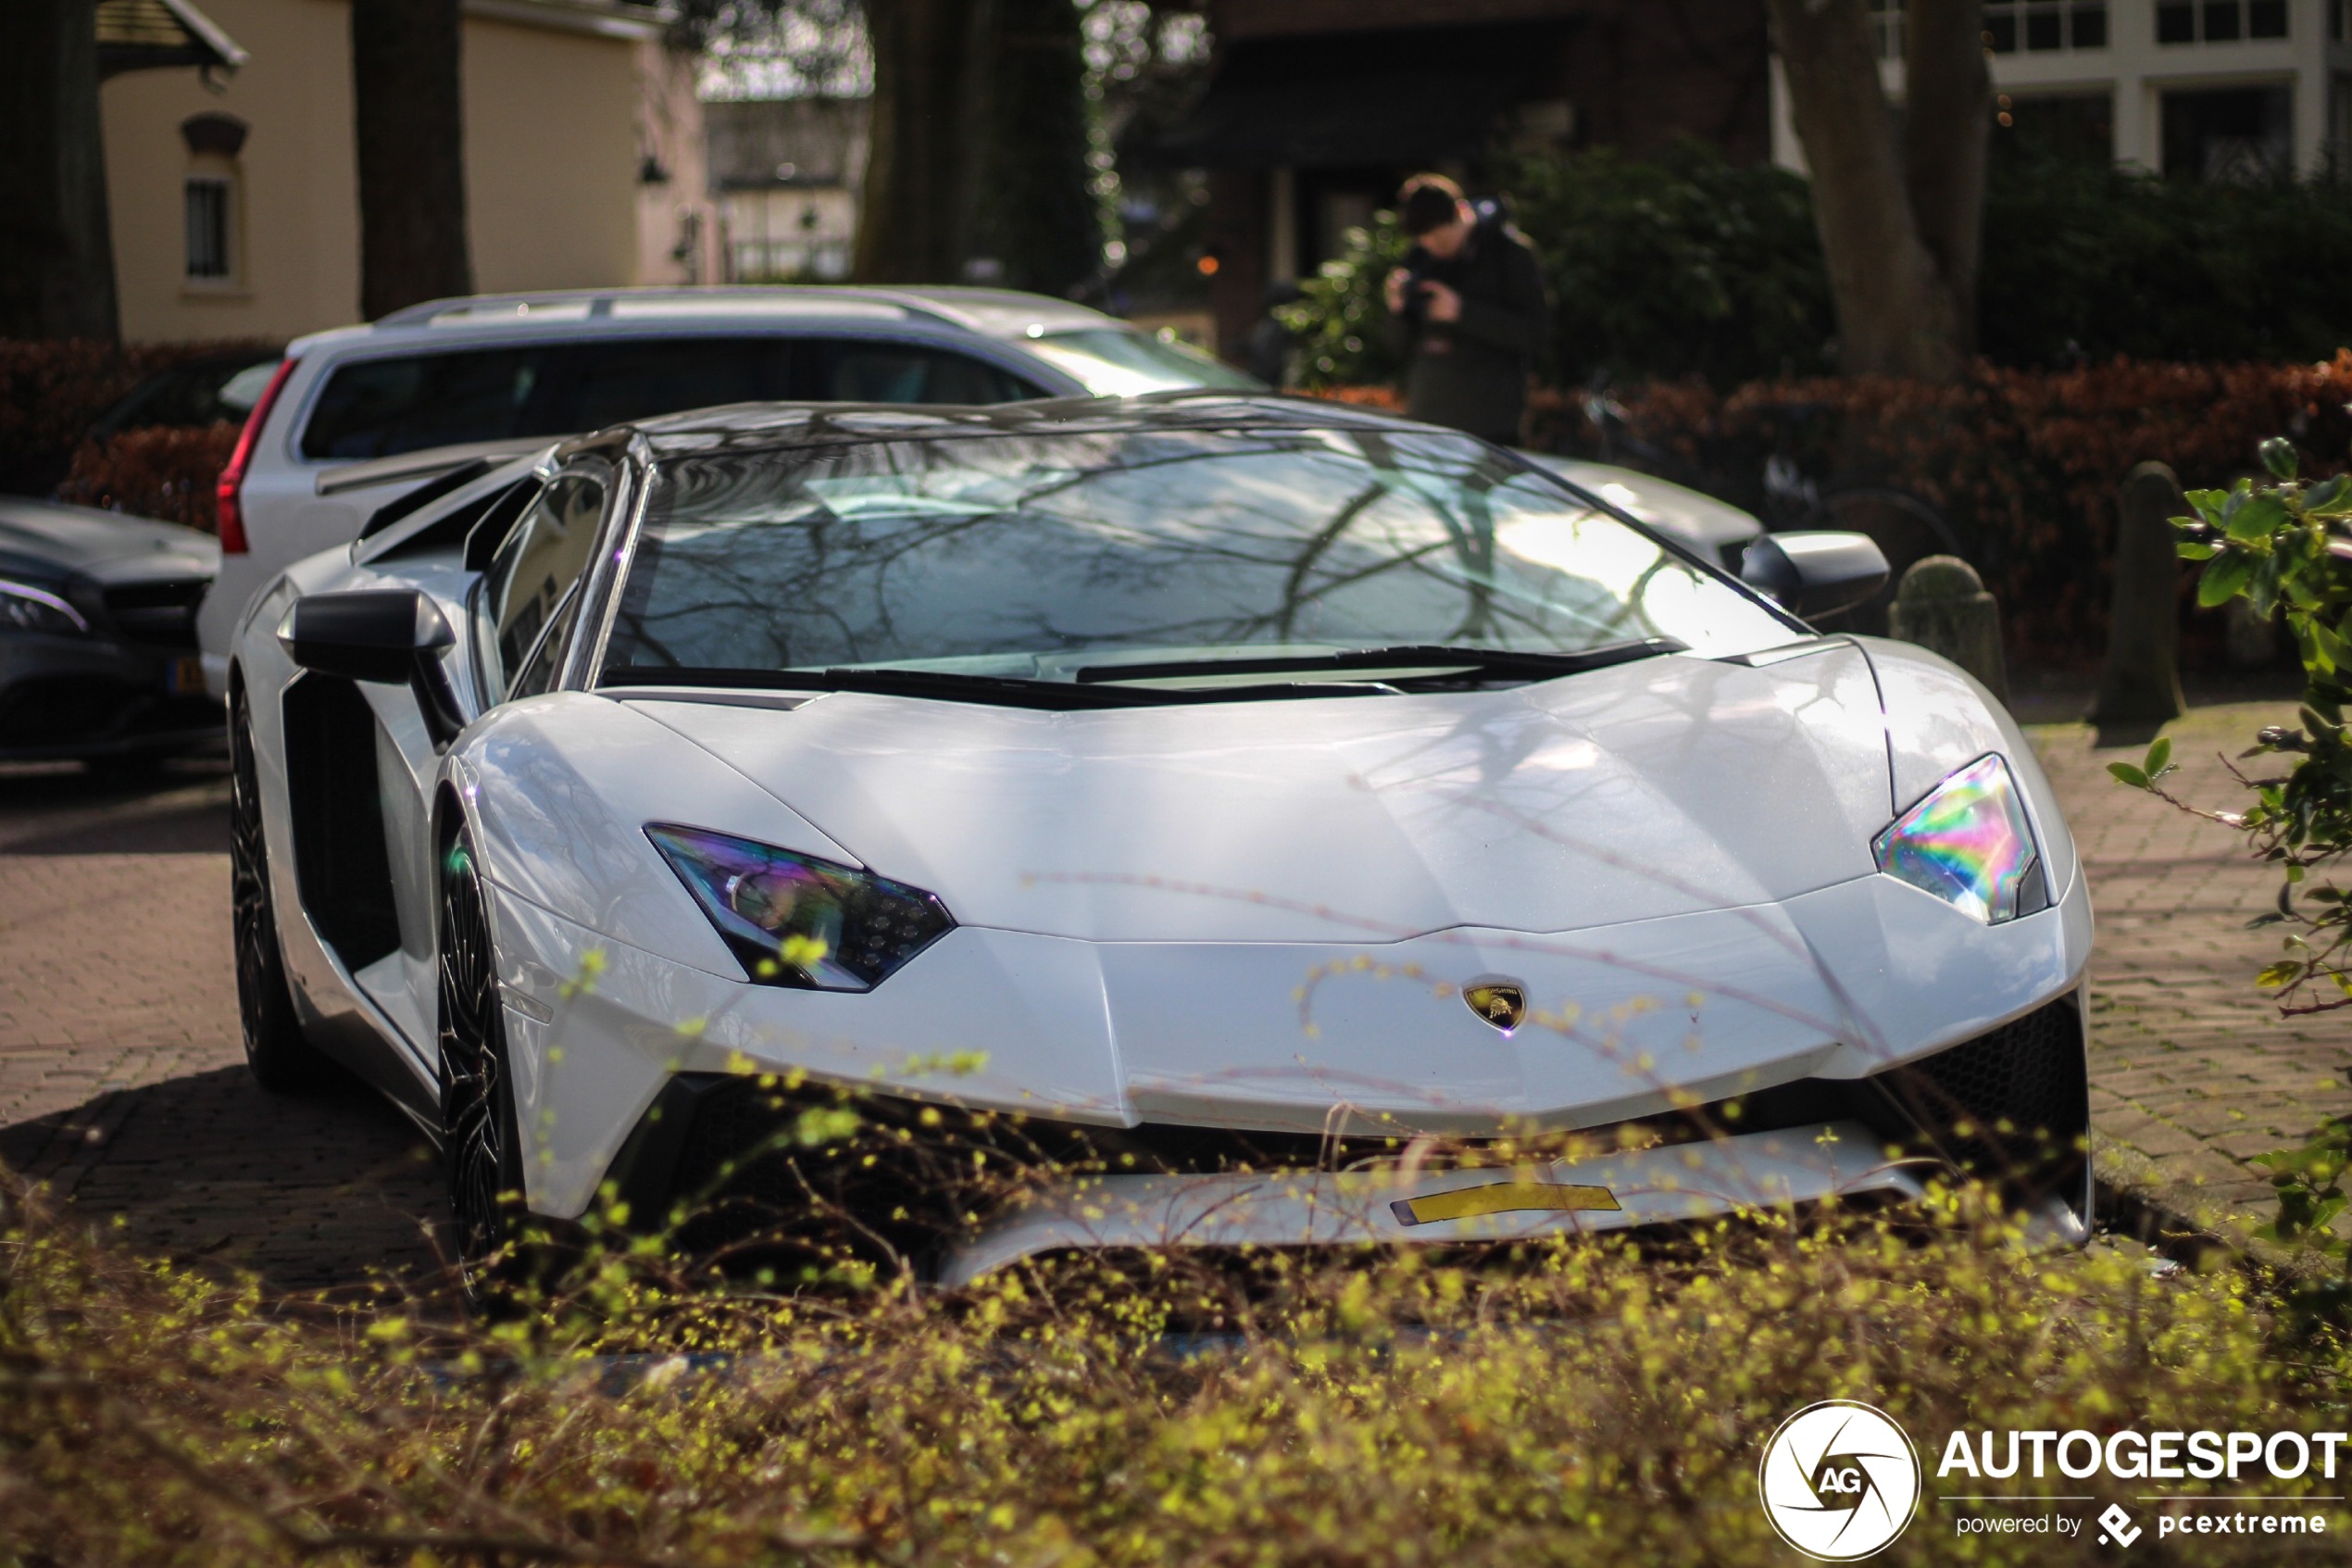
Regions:
<instances>
[{"instance_id":1,"label":"white hood of the Lamborghini below the windshield","mask_svg":"<svg viewBox=\"0 0 2352 1568\"><path fill-rule=\"evenodd\" d=\"M1743 907L1867 875L1889 818L1877 686L1846 642L1444 696L626 701L960 924L1087 940L1381 943Z\"/></svg>"}]
</instances>

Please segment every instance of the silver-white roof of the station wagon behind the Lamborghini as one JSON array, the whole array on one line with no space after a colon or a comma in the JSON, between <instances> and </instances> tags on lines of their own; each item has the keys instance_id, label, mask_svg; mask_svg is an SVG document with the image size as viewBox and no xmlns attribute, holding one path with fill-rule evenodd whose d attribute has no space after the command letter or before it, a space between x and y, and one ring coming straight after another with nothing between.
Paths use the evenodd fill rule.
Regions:
<instances>
[{"instance_id":1,"label":"silver-white roof of the station wagon behind the Lamborghini","mask_svg":"<svg viewBox=\"0 0 2352 1568\"><path fill-rule=\"evenodd\" d=\"M287 353L303 355L346 343L442 336L496 329L501 336L548 331L595 336L600 329L644 331L663 324L731 322L927 322L988 339L1028 339L1087 327L1120 327L1117 317L1087 306L1016 289L875 289L854 284L713 284L647 289L543 289L527 294L466 294L433 299L360 327L313 331Z\"/></svg>"}]
</instances>

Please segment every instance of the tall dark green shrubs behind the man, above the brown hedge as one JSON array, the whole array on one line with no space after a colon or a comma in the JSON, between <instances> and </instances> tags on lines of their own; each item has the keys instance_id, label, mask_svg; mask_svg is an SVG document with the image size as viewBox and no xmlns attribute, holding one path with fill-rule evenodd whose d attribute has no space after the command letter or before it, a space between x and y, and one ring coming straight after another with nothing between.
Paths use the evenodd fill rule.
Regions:
<instances>
[{"instance_id":1,"label":"tall dark green shrubs behind the man, above the brown hedge","mask_svg":"<svg viewBox=\"0 0 2352 1568\"><path fill-rule=\"evenodd\" d=\"M1494 169L1543 254L1555 331L1543 374L1581 386L1820 376L1837 320L1806 181L1689 141L1656 160L1599 148ZM1397 374L1381 275L1404 249L1383 214L1284 317L1305 386ZM2352 343L2352 292L2312 256L2352 252L2352 186L2201 186L2060 158L1994 160L1978 346L1999 367L2324 360Z\"/></svg>"}]
</instances>

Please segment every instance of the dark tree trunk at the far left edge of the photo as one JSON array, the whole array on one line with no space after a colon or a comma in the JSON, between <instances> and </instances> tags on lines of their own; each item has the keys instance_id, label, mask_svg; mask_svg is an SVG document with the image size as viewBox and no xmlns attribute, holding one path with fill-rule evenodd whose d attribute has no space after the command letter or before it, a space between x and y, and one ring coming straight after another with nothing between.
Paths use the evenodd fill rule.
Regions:
<instances>
[{"instance_id":1,"label":"dark tree trunk at the far left edge of the photo","mask_svg":"<svg viewBox=\"0 0 2352 1568\"><path fill-rule=\"evenodd\" d=\"M0 339L115 339L92 0L0 0Z\"/></svg>"}]
</instances>

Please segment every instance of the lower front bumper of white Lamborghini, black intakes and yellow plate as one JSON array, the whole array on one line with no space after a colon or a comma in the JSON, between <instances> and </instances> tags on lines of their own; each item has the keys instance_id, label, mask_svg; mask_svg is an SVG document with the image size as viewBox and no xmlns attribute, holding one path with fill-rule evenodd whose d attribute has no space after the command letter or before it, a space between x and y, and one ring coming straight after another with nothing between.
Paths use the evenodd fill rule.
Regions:
<instances>
[{"instance_id":1,"label":"lower front bumper of white Lamborghini, black intakes and yellow plate","mask_svg":"<svg viewBox=\"0 0 2352 1568\"><path fill-rule=\"evenodd\" d=\"M680 1074L614 1161L691 1251L861 1260L960 1286L1063 1251L1449 1246L1907 1201L1997 1182L2089 1234L2077 997L1865 1079L1802 1079L1566 1135L1439 1140L1082 1126L774 1074Z\"/></svg>"}]
</instances>

